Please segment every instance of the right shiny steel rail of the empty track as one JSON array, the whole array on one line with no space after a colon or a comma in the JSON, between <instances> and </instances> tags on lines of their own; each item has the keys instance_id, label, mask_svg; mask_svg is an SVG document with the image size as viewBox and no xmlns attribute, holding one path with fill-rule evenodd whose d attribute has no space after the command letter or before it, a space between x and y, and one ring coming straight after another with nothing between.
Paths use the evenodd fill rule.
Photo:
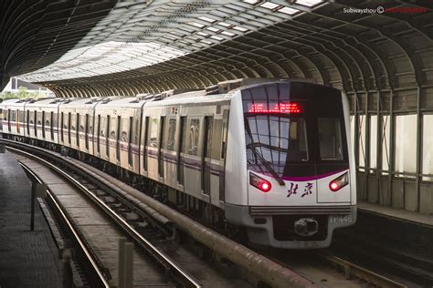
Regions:
<instances>
[{"instance_id":1,"label":"right shiny steel rail of the empty track","mask_svg":"<svg viewBox=\"0 0 433 288\"><path fill-rule=\"evenodd\" d=\"M115 211L113 211L107 204L101 201L96 195L94 195L90 190L88 190L84 185L75 180L67 172L59 169L55 165L51 164L45 159L41 159L36 155L30 154L26 151L15 149L6 145L7 149L15 150L18 153L26 154L26 156L37 159L39 162L43 162L46 166L52 170L56 170L60 175L65 177L67 180L72 182L79 190L82 190L92 201L95 201L104 211L106 211L111 218L117 223L121 224L122 228L128 232L137 242L140 242L146 252L149 252L158 262L160 262L165 268L167 268L174 276L180 280L186 287L202 287L193 276L185 272L176 262L174 262L168 255L164 252L158 250L151 242L146 240L139 232L137 232L127 221L121 218Z\"/></svg>"}]
</instances>

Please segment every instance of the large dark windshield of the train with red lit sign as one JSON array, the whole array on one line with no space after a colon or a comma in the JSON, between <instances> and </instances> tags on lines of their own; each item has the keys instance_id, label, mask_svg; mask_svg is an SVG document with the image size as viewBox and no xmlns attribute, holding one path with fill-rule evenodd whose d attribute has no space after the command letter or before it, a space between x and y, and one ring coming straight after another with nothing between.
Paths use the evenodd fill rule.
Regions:
<instances>
[{"instance_id":1,"label":"large dark windshield of the train with red lit sign","mask_svg":"<svg viewBox=\"0 0 433 288\"><path fill-rule=\"evenodd\" d=\"M245 88L241 94L248 170L279 180L347 166L338 90L280 82Z\"/></svg>"}]
</instances>

